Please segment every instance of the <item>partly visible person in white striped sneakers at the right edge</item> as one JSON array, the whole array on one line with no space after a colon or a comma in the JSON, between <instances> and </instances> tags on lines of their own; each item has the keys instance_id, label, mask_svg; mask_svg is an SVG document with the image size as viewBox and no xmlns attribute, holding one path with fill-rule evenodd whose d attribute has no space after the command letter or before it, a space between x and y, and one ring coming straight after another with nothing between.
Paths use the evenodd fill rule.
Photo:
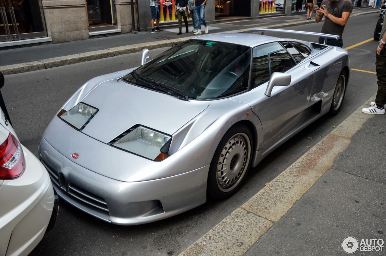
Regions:
<instances>
[{"instance_id":1,"label":"partly visible person in white striped sneakers at the right edge","mask_svg":"<svg viewBox=\"0 0 386 256\"><path fill-rule=\"evenodd\" d=\"M382 25L381 36L379 37L379 44L376 50L375 71L377 72L378 91L375 96L375 101L370 102L371 107L362 109L366 114L384 114L386 104L386 51L384 49L386 44L386 22Z\"/></svg>"}]
</instances>

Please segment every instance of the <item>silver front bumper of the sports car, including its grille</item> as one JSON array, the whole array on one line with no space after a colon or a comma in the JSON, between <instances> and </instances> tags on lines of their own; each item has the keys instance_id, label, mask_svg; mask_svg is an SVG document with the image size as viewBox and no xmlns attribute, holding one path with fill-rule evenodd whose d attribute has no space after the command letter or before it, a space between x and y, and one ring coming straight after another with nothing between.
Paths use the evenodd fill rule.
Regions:
<instances>
[{"instance_id":1,"label":"silver front bumper of the sports car, including its grille","mask_svg":"<svg viewBox=\"0 0 386 256\"><path fill-rule=\"evenodd\" d=\"M39 153L59 197L109 223L149 223L187 211L206 201L209 165L162 179L123 182L74 163L54 149L44 137Z\"/></svg>"}]
</instances>

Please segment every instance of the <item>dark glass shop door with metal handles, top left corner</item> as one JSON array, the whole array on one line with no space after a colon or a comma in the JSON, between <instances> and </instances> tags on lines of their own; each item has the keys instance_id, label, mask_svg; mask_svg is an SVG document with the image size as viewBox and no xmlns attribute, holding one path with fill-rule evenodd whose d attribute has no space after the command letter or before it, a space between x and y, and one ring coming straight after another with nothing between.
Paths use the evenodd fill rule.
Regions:
<instances>
[{"instance_id":1,"label":"dark glass shop door with metal handles, top left corner","mask_svg":"<svg viewBox=\"0 0 386 256\"><path fill-rule=\"evenodd\" d=\"M39 0L0 0L0 42L46 37Z\"/></svg>"}]
</instances>

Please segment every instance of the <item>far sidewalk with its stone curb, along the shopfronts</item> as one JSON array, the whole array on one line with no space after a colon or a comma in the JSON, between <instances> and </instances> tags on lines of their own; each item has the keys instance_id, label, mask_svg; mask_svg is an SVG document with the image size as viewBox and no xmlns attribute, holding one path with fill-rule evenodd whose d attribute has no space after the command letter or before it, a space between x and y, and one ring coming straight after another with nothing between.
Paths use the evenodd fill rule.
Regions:
<instances>
[{"instance_id":1,"label":"far sidewalk with its stone curb, along the shopfronts","mask_svg":"<svg viewBox=\"0 0 386 256\"><path fill-rule=\"evenodd\" d=\"M377 12L379 12L379 9L361 7L354 8L351 15L356 16ZM228 20L223 23L208 25L208 28L209 33L249 33L250 28L285 28L314 22L315 20L307 20L306 14L302 14L266 17L257 20ZM193 27L190 27L190 31L192 30ZM183 33L180 36L178 36L177 33L178 28L176 27L164 29L163 32L157 34L151 32L139 32L137 34L127 33L60 44L36 45L8 50L2 50L0 48L0 69L3 70L5 75L18 74L139 52L144 48L171 47L196 37L192 32Z\"/></svg>"}]
</instances>

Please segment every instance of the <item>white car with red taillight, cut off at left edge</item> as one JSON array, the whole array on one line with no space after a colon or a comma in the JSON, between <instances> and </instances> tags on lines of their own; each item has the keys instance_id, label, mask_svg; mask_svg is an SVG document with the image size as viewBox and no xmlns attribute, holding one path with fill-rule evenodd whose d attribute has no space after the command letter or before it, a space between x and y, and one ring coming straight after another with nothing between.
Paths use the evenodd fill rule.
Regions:
<instances>
[{"instance_id":1,"label":"white car with red taillight, cut off at left edge","mask_svg":"<svg viewBox=\"0 0 386 256\"><path fill-rule=\"evenodd\" d=\"M28 255L52 228L58 197L46 168L20 144L1 93L0 106L0 255Z\"/></svg>"}]
</instances>

